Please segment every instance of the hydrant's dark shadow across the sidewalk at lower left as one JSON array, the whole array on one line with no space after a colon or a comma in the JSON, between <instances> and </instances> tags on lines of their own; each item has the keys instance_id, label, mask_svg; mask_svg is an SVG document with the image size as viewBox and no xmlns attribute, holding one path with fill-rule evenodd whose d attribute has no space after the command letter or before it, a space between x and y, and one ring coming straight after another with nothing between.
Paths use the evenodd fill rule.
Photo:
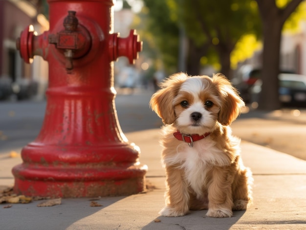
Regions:
<instances>
[{"instance_id":1,"label":"hydrant's dark shadow across the sidewalk at lower left","mask_svg":"<svg viewBox=\"0 0 306 230\"><path fill-rule=\"evenodd\" d=\"M11 208L1 212L1 229L82 229L82 225L88 227L92 224L92 216L98 214L100 216L98 219L103 219L104 209L125 198L126 196L97 199L65 198L62 199L61 205L53 207L37 207L42 201L13 204ZM93 200L102 206L90 207ZM83 224L84 221L89 222Z\"/></svg>"}]
</instances>

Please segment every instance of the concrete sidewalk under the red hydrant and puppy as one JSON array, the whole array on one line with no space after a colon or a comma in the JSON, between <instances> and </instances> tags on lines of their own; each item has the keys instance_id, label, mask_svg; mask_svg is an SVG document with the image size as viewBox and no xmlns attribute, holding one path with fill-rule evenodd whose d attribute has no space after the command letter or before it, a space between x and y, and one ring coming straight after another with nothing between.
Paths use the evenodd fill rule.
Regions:
<instances>
[{"instance_id":1,"label":"concrete sidewalk under the red hydrant and puppy","mask_svg":"<svg viewBox=\"0 0 306 230\"><path fill-rule=\"evenodd\" d=\"M122 197L98 198L102 207L90 207L90 198L63 199L61 205L38 208L41 201L0 205L1 230L228 230L306 229L306 161L287 154L242 142L242 159L254 175L254 204L236 211L231 218L205 217L207 210L182 217L162 217L164 169L160 164L159 129L126 133L141 148L140 162L149 167L147 181L155 189ZM1 154L0 187L10 186L11 168L20 157ZM155 219L160 222L154 222Z\"/></svg>"}]
</instances>

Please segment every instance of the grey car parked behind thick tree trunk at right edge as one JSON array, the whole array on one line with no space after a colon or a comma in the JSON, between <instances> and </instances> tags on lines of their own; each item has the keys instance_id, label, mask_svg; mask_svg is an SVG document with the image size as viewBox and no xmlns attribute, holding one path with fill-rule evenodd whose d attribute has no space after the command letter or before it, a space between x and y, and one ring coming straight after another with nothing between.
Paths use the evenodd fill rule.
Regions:
<instances>
[{"instance_id":1,"label":"grey car parked behind thick tree trunk at right edge","mask_svg":"<svg viewBox=\"0 0 306 230\"><path fill-rule=\"evenodd\" d=\"M306 76L281 73L279 78L279 96L284 106L306 107ZM262 81L258 80L251 88L252 102L258 102L262 91Z\"/></svg>"}]
</instances>

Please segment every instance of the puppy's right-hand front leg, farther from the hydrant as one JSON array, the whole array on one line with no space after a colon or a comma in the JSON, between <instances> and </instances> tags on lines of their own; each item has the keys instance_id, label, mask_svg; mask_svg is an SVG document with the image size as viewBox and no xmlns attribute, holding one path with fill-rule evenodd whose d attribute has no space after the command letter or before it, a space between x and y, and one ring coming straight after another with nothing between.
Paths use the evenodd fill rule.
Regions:
<instances>
[{"instance_id":1,"label":"puppy's right-hand front leg, farther from the hydrant","mask_svg":"<svg viewBox=\"0 0 306 230\"><path fill-rule=\"evenodd\" d=\"M206 216L231 217L233 215L232 177L224 168L215 168L212 173L212 181L208 188L209 203Z\"/></svg>"}]
</instances>

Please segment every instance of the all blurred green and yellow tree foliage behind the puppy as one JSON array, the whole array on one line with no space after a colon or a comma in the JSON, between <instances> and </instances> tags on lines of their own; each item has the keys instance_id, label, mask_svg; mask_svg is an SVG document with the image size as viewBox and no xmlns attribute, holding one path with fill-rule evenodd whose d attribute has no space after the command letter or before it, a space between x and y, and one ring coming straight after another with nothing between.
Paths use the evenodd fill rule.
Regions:
<instances>
[{"instance_id":1,"label":"all blurred green and yellow tree foliage behind the puppy","mask_svg":"<svg viewBox=\"0 0 306 230\"><path fill-rule=\"evenodd\" d=\"M276 0L276 4L284 8L289 1ZM201 65L219 68L222 49L227 49L231 52L231 66L236 68L237 63L262 47L256 0L144 0L144 3L140 22L146 31L141 35L146 40L144 49L151 50L152 57L161 60L170 73L177 68L180 27L196 47L210 43ZM305 10L303 2L286 21L285 31L297 31L298 22L306 18Z\"/></svg>"}]
</instances>

